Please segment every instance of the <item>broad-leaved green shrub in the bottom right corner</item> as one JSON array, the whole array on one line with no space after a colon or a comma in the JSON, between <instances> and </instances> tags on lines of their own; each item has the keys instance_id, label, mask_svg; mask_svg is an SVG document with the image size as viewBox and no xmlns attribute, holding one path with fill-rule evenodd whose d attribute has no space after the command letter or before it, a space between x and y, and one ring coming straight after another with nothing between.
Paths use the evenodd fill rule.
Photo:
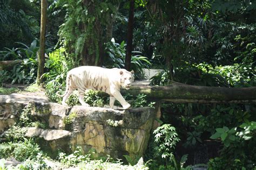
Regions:
<instances>
[{"instance_id":1,"label":"broad-leaved green shrub in the bottom right corner","mask_svg":"<svg viewBox=\"0 0 256 170\"><path fill-rule=\"evenodd\" d=\"M253 169L255 168L256 122L242 123L239 127L228 129L226 126L217 128L211 136L212 139L220 138L224 144L220 157L210 159L210 169L220 165L225 169Z\"/></svg>"}]
</instances>

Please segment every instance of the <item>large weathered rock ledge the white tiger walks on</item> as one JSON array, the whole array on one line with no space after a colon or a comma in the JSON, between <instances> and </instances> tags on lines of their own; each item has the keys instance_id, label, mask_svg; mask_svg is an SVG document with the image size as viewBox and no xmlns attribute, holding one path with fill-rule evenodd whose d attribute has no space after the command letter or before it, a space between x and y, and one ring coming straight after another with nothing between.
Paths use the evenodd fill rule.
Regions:
<instances>
[{"instance_id":1,"label":"large weathered rock ledge the white tiger walks on","mask_svg":"<svg viewBox=\"0 0 256 170\"><path fill-rule=\"evenodd\" d=\"M65 107L39 98L0 95L0 121L4 121L0 122L0 133L12 126L28 105L33 118L48 128L28 128L25 136L39 138L41 147L53 154L58 150L71 153L79 147L84 154L94 150L95 156L142 155L156 116L150 107Z\"/></svg>"}]
</instances>

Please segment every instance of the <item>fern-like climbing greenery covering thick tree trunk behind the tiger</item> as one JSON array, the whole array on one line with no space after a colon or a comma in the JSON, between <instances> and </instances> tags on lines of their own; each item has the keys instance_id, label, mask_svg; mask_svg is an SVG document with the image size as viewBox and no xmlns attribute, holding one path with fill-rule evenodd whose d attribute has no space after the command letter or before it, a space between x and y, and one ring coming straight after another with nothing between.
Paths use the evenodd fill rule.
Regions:
<instances>
[{"instance_id":1,"label":"fern-like climbing greenery covering thick tree trunk behind the tiger","mask_svg":"<svg viewBox=\"0 0 256 170\"><path fill-rule=\"evenodd\" d=\"M82 65L102 65L105 43L112 38L112 27L119 1L62 0L65 23L60 26L60 44Z\"/></svg>"}]
</instances>

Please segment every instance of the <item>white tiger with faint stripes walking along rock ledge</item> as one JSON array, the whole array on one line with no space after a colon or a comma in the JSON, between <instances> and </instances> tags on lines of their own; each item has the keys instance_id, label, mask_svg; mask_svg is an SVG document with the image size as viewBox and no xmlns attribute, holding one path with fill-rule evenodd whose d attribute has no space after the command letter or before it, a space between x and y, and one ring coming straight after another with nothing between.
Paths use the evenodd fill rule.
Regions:
<instances>
[{"instance_id":1,"label":"white tiger with faint stripes walking along rock ledge","mask_svg":"<svg viewBox=\"0 0 256 170\"><path fill-rule=\"evenodd\" d=\"M134 81L134 72L128 72L126 69L119 68L102 68L96 66L81 66L71 69L66 76L66 91L63 95L62 105L71 93L78 89L79 102L82 105L89 106L84 102L84 93L86 89L104 91L110 95L110 108L114 107L114 101L117 99L124 109L130 108L124 97L120 94L120 89L130 89L131 83Z\"/></svg>"}]
</instances>

